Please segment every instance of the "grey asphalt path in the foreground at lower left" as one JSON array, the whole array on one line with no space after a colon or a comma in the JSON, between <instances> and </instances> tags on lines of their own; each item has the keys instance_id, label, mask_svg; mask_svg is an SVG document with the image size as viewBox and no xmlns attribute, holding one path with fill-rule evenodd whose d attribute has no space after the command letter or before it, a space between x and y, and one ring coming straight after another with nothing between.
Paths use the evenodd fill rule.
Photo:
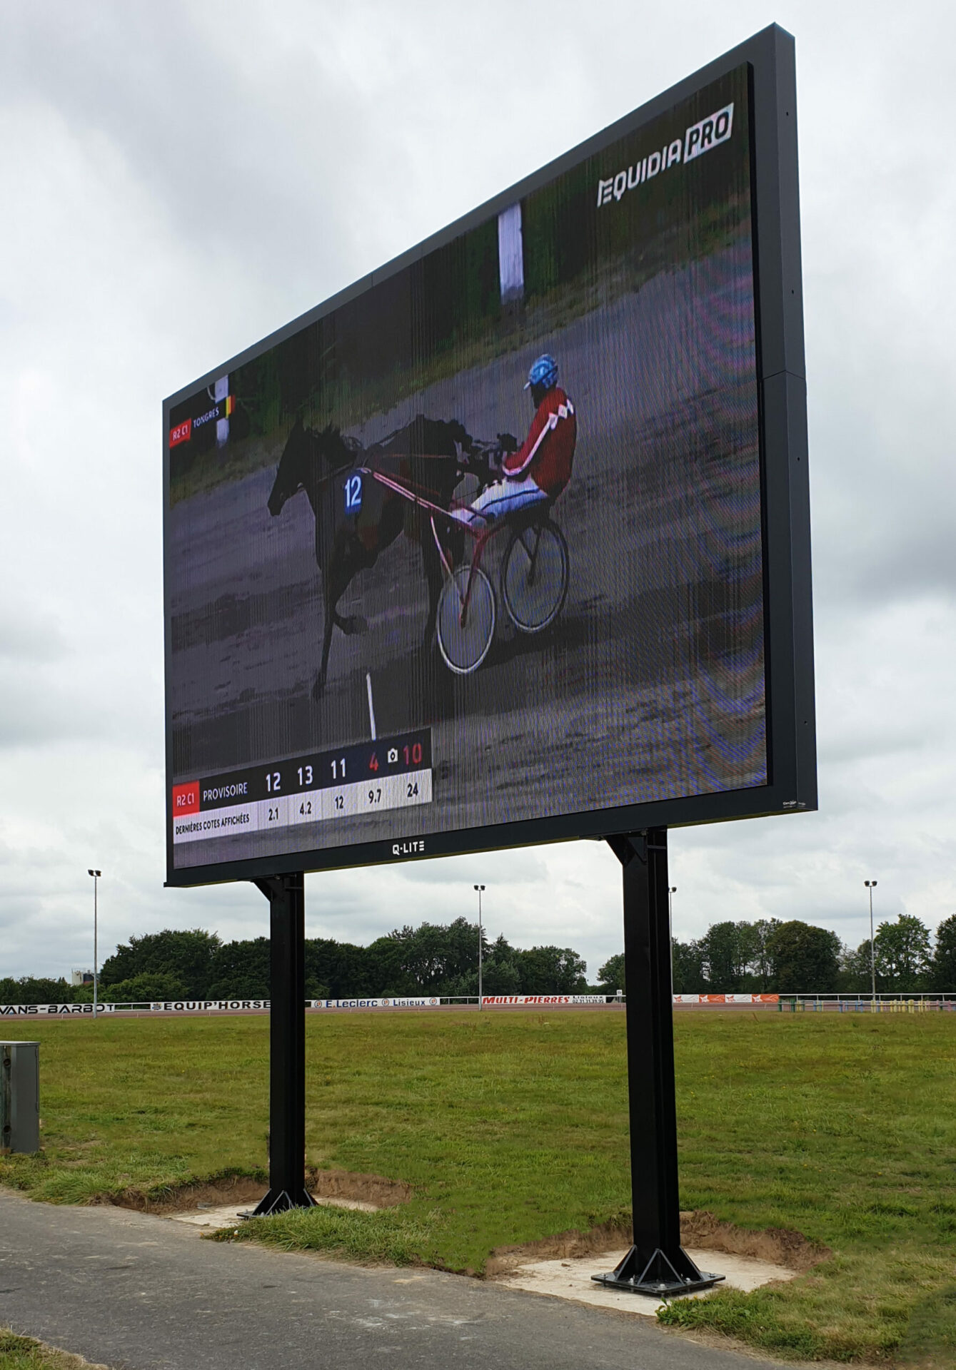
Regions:
<instances>
[{"instance_id":1,"label":"grey asphalt path in the foreground at lower left","mask_svg":"<svg viewBox=\"0 0 956 1370\"><path fill-rule=\"evenodd\" d=\"M743 1370L643 1318L433 1270L346 1266L122 1208L0 1192L0 1323L117 1370Z\"/></svg>"}]
</instances>

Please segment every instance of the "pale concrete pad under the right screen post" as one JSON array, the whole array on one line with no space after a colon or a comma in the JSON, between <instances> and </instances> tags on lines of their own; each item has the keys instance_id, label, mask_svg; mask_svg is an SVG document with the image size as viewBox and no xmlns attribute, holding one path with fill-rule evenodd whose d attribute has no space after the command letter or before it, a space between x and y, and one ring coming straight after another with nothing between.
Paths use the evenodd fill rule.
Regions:
<instances>
[{"instance_id":1,"label":"pale concrete pad under the right screen post","mask_svg":"<svg viewBox=\"0 0 956 1370\"><path fill-rule=\"evenodd\" d=\"M571 1299L587 1303L595 1308L616 1308L619 1312L634 1312L653 1318L664 1307L660 1299L650 1295L630 1293L627 1289L608 1289L595 1284L591 1275L608 1274L624 1259L627 1251L605 1251L598 1256L582 1256L566 1260L529 1260L516 1266L507 1274L498 1277L509 1289L525 1289L528 1293L550 1293L555 1299ZM698 1270L726 1275L715 1288L723 1285L749 1293L774 1280L794 1280L797 1271L786 1266L775 1266L753 1256L731 1256L726 1251L687 1251ZM686 1299L705 1299L710 1291L695 1295L682 1295Z\"/></svg>"}]
</instances>

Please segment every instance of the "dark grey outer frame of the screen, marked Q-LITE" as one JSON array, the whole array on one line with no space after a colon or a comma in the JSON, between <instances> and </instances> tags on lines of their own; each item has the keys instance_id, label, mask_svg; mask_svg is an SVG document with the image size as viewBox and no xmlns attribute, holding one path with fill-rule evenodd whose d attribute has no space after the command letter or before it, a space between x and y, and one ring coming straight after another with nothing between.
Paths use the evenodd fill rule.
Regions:
<instances>
[{"instance_id":1,"label":"dark grey outer frame of the screen, marked Q-LITE","mask_svg":"<svg viewBox=\"0 0 956 1370\"><path fill-rule=\"evenodd\" d=\"M383 864L422 856L531 847L575 838L605 838L647 827L680 827L817 807L813 693L813 618L806 449L806 378L797 173L796 55L793 37L776 25L726 52L601 133L486 201L388 264L247 348L163 401L163 569L169 585L167 434L170 411L203 386L261 356L372 285L405 270L435 248L499 214L583 159L604 151L734 68L750 74L750 188L753 196L757 384L764 511L764 615L767 685L765 785L588 810L514 823L407 838L396 812L392 838L335 848L284 852L204 866L173 866L173 730L170 719L171 615L165 603L166 649L166 867L169 886L261 880L291 871Z\"/></svg>"}]
</instances>

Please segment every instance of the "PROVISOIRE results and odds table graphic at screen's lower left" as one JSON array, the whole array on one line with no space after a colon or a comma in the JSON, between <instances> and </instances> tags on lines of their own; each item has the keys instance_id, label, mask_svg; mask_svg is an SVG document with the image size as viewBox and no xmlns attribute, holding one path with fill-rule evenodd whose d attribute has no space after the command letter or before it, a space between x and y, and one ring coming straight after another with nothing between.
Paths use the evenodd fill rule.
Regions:
<instances>
[{"instance_id":1,"label":"PROVISOIRE results and odds table graphic at screen's lower left","mask_svg":"<svg viewBox=\"0 0 956 1370\"><path fill-rule=\"evenodd\" d=\"M173 786L173 843L346 821L432 801L431 730Z\"/></svg>"}]
</instances>

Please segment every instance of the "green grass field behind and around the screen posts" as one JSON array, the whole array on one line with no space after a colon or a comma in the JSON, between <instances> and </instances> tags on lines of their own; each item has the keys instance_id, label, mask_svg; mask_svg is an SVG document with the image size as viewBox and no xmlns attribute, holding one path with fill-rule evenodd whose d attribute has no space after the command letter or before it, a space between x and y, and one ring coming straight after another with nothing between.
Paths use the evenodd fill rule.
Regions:
<instances>
[{"instance_id":1,"label":"green grass field behind and around the screen posts","mask_svg":"<svg viewBox=\"0 0 956 1370\"><path fill-rule=\"evenodd\" d=\"M265 1174L266 1018L3 1030L43 1043L45 1152L0 1158L0 1181L82 1203ZM244 1236L480 1273L495 1247L628 1210L623 1014L313 1017L307 1034L309 1162L414 1196ZM682 1207L834 1255L664 1321L791 1358L956 1365L953 1018L682 1015L675 1048Z\"/></svg>"}]
</instances>

